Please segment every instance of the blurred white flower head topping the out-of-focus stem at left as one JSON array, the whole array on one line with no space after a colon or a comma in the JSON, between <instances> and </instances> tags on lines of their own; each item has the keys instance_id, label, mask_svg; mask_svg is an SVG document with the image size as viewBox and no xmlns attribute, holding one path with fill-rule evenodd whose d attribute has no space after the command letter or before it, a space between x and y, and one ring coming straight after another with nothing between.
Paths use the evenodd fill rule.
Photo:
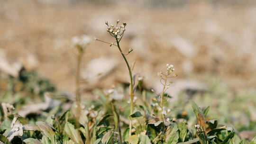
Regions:
<instances>
[{"instance_id":1,"label":"blurred white flower head topping the out-of-focus stem at left","mask_svg":"<svg viewBox=\"0 0 256 144\"><path fill-rule=\"evenodd\" d=\"M88 44L91 43L91 37L86 35L82 35L81 37L73 36L71 41L73 45L85 48Z\"/></svg>"}]
</instances>

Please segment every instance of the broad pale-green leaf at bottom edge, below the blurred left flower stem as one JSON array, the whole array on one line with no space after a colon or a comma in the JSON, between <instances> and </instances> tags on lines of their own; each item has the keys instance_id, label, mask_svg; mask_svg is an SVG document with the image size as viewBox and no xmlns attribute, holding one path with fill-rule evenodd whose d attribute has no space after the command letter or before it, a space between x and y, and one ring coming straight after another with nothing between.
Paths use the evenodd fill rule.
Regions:
<instances>
[{"instance_id":1,"label":"broad pale-green leaf at bottom edge, below the blurred left flower stem","mask_svg":"<svg viewBox=\"0 0 256 144\"><path fill-rule=\"evenodd\" d=\"M75 144L83 144L82 138L78 129L75 129L71 123L65 124L64 131Z\"/></svg>"}]
</instances>

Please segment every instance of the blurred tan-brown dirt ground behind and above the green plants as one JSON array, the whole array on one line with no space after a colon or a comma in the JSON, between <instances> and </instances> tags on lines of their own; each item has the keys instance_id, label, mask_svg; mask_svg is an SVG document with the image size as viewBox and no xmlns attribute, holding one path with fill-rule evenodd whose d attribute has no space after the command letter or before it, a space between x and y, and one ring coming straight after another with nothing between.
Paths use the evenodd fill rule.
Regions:
<instances>
[{"instance_id":1,"label":"blurred tan-brown dirt ground behind and above the green plants","mask_svg":"<svg viewBox=\"0 0 256 144\"><path fill-rule=\"evenodd\" d=\"M157 72L166 63L179 75L174 87L190 83L203 89L194 82L219 77L235 89L255 89L254 0L0 0L0 70L15 76L23 65L73 93L71 39L114 41L105 19L127 23L121 47L134 49L129 63L136 61L133 72L144 76L148 89L159 85ZM84 90L110 88L128 83L128 71L116 47L92 41L82 78Z\"/></svg>"}]
</instances>

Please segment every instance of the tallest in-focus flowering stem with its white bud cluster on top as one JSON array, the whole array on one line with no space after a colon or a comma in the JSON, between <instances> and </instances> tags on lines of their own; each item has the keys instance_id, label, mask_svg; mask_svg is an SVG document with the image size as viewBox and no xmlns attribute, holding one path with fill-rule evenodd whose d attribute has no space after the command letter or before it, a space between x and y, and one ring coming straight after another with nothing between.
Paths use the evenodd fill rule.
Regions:
<instances>
[{"instance_id":1,"label":"tallest in-focus flowering stem with its white bud cluster on top","mask_svg":"<svg viewBox=\"0 0 256 144\"><path fill-rule=\"evenodd\" d=\"M128 67L128 71L129 71L129 76L130 76L130 101L131 101L131 105L130 105L130 114L133 113L133 105L134 105L134 101L133 101L133 98L134 98L134 93L133 93L133 79L132 79L132 71L131 71L131 67L127 61L127 58L126 58L126 55L130 54L133 49L129 49L128 53L127 54L124 54L122 52L122 49L120 47L120 41L122 39L122 37L124 36L124 32L125 32L125 27L126 27L126 23L123 23L120 27L118 27L118 24L119 24L119 20L117 20L116 22L116 25L113 25L113 24L109 24L108 21L105 21L105 24L108 26L107 28L107 32L109 32L110 36L113 36L115 37L115 42L112 42L112 43L108 43L108 42L105 42L105 41L102 41L102 40L99 40L97 38L94 38L94 40L97 40L97 41L100 41L100 42L103 42L103 43L106 43L106 44L109 44L110 46L114 45L114 46L117 46L120 53L122 54L122 57L124 58L125 60L125 63ZM130 120L130 124L129 124L129 136L131 136L131 129L132 129L132 121Z\"/></svg>"}]
</instances>

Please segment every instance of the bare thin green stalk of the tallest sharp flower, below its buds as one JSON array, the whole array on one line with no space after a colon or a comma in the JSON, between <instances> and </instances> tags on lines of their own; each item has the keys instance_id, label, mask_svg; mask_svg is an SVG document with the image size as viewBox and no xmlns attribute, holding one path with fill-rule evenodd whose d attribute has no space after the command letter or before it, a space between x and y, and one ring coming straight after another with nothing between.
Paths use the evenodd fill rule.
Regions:
<instances>
[{"instance_id":1,"label":"bare thin green stalk of the tallest sharp flower, below its buds","mask_svg":"<svg viewBox=\"0 0 256 144\"><path fill-rule=\"evenodd\" d=\"M120 51L120 53L122 54L125 62L126 62L126 65L128 67L128 70L129 70L129 75L130 75L130 86L131 86L131 91L130 91L130 98L131 98L131 105L130 105L130 114L133 113L133 80L132 80L132 72L131 72L131 68L129 66L129 63L125 57L125 55L123 54L121 48L120 48L120 45L119 45L119 41L118 41L118 38L116 37L116 40L117 40L117 45L118 45L118 49ZM130 125L129 125L129 136L131 136L131 129L132 129L132 121L130 120Z\"/></svg>"}]
</instances>

